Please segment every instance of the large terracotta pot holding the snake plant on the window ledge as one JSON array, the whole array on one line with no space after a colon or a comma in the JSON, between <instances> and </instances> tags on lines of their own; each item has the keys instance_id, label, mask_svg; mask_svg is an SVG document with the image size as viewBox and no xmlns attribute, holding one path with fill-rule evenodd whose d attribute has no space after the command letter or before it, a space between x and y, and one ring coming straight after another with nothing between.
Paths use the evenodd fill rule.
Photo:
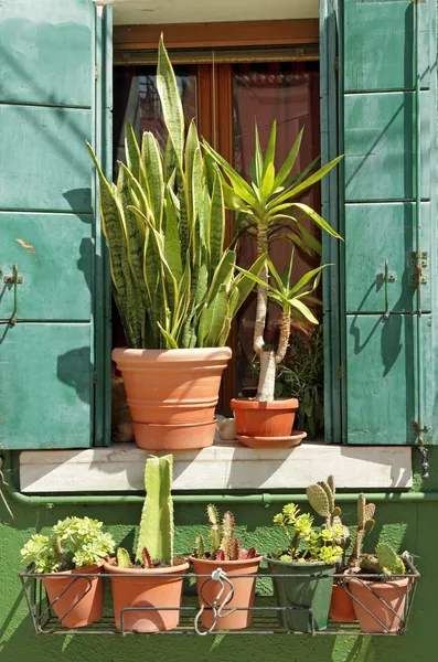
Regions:
<instances>
[{"instance_id":1,"label":"large terracotta pot holding the snake plant on the window ledge","mask_svg":"<svg viewBox=\"0 0 438 662\"><path fill-rule=\"evenodd\" d=\"M137 446L204 448L214 439L214 410L229 348L113 351L121 372Z\"/></svg>"}]
</instances>

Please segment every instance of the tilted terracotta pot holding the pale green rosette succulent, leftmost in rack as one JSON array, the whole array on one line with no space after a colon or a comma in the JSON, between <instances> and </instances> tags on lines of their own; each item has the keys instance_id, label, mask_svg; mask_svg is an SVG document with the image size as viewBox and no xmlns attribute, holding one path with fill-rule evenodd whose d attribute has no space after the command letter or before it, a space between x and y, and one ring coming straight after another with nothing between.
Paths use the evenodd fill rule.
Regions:
<instances>
[{"instance_id":1,"label":"tilted terracotta pot holding the pale green rosette succulent, leftmost in rack","mask_svg":"<svg viewBox=\"0 0 438 662\"><path fill-rule=\"evenodd\" d=\"M77 574L98 574L97 565L66 570L57 577L42 579L49 601L64 628L83 628L102 618L104 608L104 581L98 577L77 577ZM68 575L65 577L64 575ZM65 592L64 592L65 591ZM68 613L67 613L68 612Z\"/></svg>"}]
</instances>

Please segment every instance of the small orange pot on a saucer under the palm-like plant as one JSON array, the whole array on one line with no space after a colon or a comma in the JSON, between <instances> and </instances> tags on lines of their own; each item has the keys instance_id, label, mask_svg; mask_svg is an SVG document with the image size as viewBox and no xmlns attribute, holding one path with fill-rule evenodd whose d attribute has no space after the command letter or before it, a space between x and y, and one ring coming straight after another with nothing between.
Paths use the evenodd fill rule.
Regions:
<instances>
[{"instance_id":1,"label":"small orange pot on a saucer under the palm-like plant","mask_svg":"<svg viewBox=\"0 0 438 662\"><path fill-rule=\"evenodd\" d=\"M295 397L260 403L232 399L237 434L245 437L289 437L299 403Z\"/></svg>"}]
</instances>

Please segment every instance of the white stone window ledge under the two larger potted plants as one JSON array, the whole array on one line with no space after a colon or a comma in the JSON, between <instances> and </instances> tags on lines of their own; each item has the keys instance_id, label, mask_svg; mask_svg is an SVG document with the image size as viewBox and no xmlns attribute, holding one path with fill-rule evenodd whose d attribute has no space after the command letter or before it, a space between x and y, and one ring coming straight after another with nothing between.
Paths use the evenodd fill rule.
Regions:
<instances>
[{"instance_id":1,"label":"white stone window ledge under the two larger potted plants","mask_svg":"<svg viewBox=\"0 0 438 662\"><path fill-rule=\"evenodd\" d=\"M151 453L165 455L165 453ZM132 444L86 450L22 451L23 492L131 492L143 490L148 452ZM216 442L203 450L173 452L173 489L296 490L330 473L344 489L408 489L412 449L399 446L303 444L292 449L252 449Z\"/></svg>"}]
</instances>

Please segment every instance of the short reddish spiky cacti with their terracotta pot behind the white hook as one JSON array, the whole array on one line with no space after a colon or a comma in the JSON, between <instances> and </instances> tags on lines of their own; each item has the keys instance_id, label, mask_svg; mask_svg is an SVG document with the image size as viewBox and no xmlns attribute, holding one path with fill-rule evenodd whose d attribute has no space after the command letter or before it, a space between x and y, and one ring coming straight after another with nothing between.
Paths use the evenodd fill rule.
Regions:
<instances>
[{"instance_id":1,"label":"short reddish spiky cacti with their terracotta pot behind the white hook","mask_svg":"<svg viewBox=\"0 0 438 662\"><path fill-rule=\"evenodd\" d=\"M217 508L210 504L206 514L210 524L210 548L204 535L199 534L194 553L190 557L196 574L199 601L204 606L202 624L209 630L248 628L252 623L250 608L254 604L256 575L261 556L255 547L242 547L239 538L235 537L235 519L231 511L226 511L221 519ZM217 568L222 568L233 583L234 594L229 600L227 587L223 591L221 584L211 578ZM235 575L239 576L234 577ZM220 610L215 622L211 606L217 599L222 601L223 609ZM233 611L236 607L238 609Z\"/></svg>"}]
</instances>

